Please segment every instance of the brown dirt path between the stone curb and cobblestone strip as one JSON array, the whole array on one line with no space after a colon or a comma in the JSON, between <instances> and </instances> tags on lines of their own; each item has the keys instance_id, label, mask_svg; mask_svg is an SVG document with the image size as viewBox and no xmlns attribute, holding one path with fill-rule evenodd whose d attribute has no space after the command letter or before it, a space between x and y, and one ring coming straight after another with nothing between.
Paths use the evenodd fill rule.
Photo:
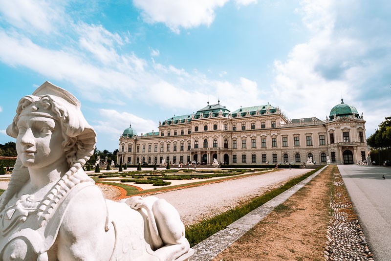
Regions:
<instances>
[{"instance_id":1,"label":"brown dirt path between the stone curb and cobblestone strip","mask_svg":"<svg viewBox=\"0 0 391 261\"><path fill-rule=\"evenodd\" d=\"M334 168L327 167L214 260L324 260Z\"/></svg>"}]
</instances>

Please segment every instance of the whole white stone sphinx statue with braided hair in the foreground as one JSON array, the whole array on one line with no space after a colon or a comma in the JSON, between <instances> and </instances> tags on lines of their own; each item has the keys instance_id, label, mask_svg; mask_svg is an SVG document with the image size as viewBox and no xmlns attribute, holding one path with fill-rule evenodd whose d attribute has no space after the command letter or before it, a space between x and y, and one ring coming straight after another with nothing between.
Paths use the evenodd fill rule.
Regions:
<instances>
[{"instance_id":1,"label":"whole white stone sphinx statue with braided hair in the foreground","mask_svg":"<svg viewBox=\"0 0 391 261\"><path fill-rule=\"evenodd\" d=\"M187 260L175 208L157 197L104 198L82 166L96 134L66 90L45 82L6 130L18 158L0 196L0 260Z\"/></svg>"}]
</instances>

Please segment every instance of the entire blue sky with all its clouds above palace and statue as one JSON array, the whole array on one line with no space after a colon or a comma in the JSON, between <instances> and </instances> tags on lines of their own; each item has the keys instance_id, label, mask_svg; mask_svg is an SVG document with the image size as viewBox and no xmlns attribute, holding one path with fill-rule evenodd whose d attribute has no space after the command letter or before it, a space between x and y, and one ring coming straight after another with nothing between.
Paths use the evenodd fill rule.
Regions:
<instances>
[{"instance_id":1,"label":"entire blue sky with all its clouds above palace and statue","mask_svg":"<svg viewBox=\"0 0 391 261\"><path fill-rule=\"evenodd\" d=\"M73 93L113 151L123 130L220 103L326 119L353 105L369 136L391 114L391 2L0 0L0 143L22 96ZM115 3L114 3L115 2Z\"/></svg>"}]
</instances>

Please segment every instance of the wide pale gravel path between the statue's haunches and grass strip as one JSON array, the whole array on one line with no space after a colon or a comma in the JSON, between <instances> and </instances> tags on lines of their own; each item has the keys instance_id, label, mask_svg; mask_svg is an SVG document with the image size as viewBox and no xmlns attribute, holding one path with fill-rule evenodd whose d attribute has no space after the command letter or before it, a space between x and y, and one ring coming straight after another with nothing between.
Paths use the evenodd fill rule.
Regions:
<instances>
[{"instance_id":1,"label":"wide pale gravel path between the statue's haunches and grass strip","mask_svg":"<svg viewBox=\"0 0 391 261\"><path fill-rule=\"evenodd\" d=\"M280 170L257 176L229 180L199 187L176 190L155 195L166 199L179 212L185 225L202 218L211 217L260 196L267 190L278 187L284 181L310 170Z\"/></svg>"}]
</instances>

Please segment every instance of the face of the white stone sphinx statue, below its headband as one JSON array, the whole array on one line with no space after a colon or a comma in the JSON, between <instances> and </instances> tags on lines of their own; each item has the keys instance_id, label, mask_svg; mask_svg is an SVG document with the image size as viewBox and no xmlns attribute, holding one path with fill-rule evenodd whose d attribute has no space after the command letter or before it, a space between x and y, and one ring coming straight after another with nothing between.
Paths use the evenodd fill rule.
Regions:
<instances>
[{"instance_id":1,"label":"face of the white stone sphinx statue, below its headband","mask_svg":"<svg viewBox=\"0 0 391 261\"><path fill-rule=\"evenodd\" d=\"M17 126L16 150L25 167L39 169L65 160L64 138L58 121L22 115Z\"/></svg>"}]
</instances>

